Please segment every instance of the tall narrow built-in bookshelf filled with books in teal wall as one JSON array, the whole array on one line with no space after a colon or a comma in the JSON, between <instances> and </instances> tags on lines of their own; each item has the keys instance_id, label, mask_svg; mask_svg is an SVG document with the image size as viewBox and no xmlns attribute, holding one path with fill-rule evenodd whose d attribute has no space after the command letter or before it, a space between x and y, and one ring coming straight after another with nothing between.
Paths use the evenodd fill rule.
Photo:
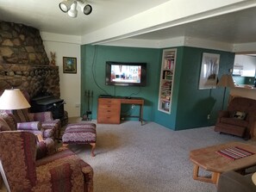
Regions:
<instances>
[{"instance_id":1,"label":"tall narrow built-in bookshelf filled with books in teal wall","mask_svg":"<svg viewBox=\"0 0 256 192\"><path fill-rule=\"evenodd\" d=\"M161 74L159 81L159 111L171 114L172 85L176 65L177 49L165 49L163 51Z\"/></svg>"}]
</instances>

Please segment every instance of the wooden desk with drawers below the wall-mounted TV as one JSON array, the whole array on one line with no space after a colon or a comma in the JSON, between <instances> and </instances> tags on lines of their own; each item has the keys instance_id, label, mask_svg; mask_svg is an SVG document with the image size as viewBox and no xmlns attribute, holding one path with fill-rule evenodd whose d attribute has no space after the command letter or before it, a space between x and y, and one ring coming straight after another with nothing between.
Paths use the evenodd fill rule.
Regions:
<instances>
[{"instance_id":1,"label":"wooden desk with drawers below the wall-mounted TV","mask_svg":"<svg viewBox=\"0 0 256 192\"><path fill-rule=\"evenodd\" d=\"M140 105L140 114L138 118L142 125L144 100L138 97L98 98L97 123L120 124L122 104Z\"/></svg>"}]
</instances>

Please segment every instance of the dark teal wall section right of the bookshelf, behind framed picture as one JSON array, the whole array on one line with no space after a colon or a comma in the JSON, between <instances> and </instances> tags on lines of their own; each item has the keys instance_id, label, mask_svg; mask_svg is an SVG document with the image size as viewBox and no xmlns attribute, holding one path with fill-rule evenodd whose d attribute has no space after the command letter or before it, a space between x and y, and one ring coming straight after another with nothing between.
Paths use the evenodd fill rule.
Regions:
<instances>
[{"instance_id":1,"label":"dark teal wall section right of the bookshelf, behind framed picture","mask_svg":"<svg viewBox=\"0 0 256 192\"><path fill-rule=\"evenodd\" d=\"M222 109L224 88L198 90L203 53L220 54L218 79L233 68L234 53L195 47L183 47L183 60L179 91L176 130L215 125L218 111ZM176 86L176 84L175 84ZM226 92L224 106L228 103ZM210 119L207 116L210 115Z\"/></svg>"}]
</instances>

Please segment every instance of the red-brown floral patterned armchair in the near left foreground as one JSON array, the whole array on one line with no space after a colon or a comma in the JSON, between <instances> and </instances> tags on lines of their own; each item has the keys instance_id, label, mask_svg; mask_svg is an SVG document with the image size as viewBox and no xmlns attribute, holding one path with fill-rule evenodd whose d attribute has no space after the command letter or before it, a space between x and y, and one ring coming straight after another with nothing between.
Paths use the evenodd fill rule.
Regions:
<instances>
[{"instance_id":1,"label":"red-brown floral patterned armchair in the near left foreground","mask_svg":"<svg viewBox=\"0 0 256 192\"><path fill-rule=\"evenodd\" d=\"M36 160L37 147L33 133L0 133L0 170L9 191L93 191L89 164L68 149Z\"/></svg>"}]
</instances>

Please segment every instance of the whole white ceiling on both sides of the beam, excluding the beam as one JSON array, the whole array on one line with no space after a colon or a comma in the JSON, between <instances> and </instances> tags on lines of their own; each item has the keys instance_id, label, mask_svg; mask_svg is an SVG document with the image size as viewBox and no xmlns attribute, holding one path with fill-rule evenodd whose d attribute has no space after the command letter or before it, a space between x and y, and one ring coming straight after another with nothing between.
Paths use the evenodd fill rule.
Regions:
<instances>
[{"instance_id":1,"label":"whole white ceiling on both sides of the beam, excluding the beam","mask_svg":"<svg viewBox=\"0 0 256 192\"><path fill-rule=\"evenodd\" d=\"M91 15L71 18L59 9L60 0L0 0L0 19L23 23L55 34L84 35L170 0L88 0ZM255 1L253 1L255 2ZM172 28L134 35L135 39L165 40L178 36L228 43L256 42L256 7Z\"/></svg>"}]
</instances>

